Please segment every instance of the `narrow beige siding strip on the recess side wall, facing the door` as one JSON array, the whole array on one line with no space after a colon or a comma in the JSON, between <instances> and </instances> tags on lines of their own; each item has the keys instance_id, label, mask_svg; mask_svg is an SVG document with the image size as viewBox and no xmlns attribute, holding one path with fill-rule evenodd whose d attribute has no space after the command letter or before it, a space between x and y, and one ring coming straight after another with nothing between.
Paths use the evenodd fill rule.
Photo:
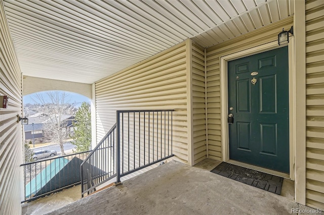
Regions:
<instances>
[{"instance_id":1,"label":"narrow beige siding strip on the recess side wall, facing the door","mask_svg":"<svg viewBox=\"0 0 324 215\"><path fill-rule=\"evenodd\" d=\"M192 118L194 164L207 157L205 113L205 52L192 43Z\"/></svg>"}]
</instances>

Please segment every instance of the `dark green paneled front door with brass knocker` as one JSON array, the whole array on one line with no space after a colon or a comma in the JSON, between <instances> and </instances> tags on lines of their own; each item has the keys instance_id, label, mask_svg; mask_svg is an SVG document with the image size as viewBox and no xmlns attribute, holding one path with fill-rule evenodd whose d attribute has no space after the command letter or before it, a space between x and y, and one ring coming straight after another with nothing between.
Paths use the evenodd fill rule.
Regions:
<instances>
[{"instance_id":1,"label":"dark green paneled front door with brass knocker","mask_svg":"<svg viewBox=\"0 0 324 215\"><path fill-rule=\"evenodd\" d=\"M289 173L288 47L228 62L229 156Z\"/></svg>"}]
</instances>

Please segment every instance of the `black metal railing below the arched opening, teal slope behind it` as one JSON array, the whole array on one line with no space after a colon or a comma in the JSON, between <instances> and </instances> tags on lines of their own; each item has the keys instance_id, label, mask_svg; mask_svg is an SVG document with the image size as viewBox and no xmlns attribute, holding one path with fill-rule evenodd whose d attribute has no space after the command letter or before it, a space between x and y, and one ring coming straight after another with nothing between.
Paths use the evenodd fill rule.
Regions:
<instances>
[{"instance_id":1,"label":"black metal railing below the arched opening, teal slope behind it","mask_svg":"<svg viewBox=\"0 0 324 215\"><path fill-rule=\"evenodd\" d=\"M80 184L80 165L91 151L37 160L20 165L24 172L24 200L37 198Z\"/></svg>"}]
</instances>

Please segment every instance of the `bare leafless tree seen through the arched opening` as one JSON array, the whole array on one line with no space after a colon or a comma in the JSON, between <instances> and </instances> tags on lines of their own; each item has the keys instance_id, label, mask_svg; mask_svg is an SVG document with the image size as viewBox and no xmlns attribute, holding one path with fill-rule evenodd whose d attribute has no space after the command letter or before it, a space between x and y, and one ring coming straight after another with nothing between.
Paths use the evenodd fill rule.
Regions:
<instances>
[{"instance_id":1,"label":"bare leafless tree seen through the arched opening","mask_svg":"<svg viewBox=\"0 0 324 215\"><path fill-rule=\"evenodd\" d=\"M69 137L66 129L66 116L71 114L71 105L67 103L67 94L61 91L49 91L47 96L36 93L35 102L39 103L39 112L44 114L47 120L43 123L45 137L53 142L59 142L61 154L64 155L63 143Z\"/></svg>"}]
</instances>

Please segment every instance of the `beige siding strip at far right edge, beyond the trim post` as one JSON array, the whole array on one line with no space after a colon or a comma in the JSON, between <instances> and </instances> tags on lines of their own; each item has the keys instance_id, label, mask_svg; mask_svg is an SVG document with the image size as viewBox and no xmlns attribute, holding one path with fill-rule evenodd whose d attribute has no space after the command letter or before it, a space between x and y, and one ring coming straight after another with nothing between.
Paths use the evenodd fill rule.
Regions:
<instances>
[{"instance_id":1,"label":"beige siding strip at far right edge, beyond the trim post","mask_svg":"<svg viewBox=\"0 0 324 215\"><path fill-rule=\"evenodd\" d=\"M324 209L324 2L306 2L306 205Z\"/></svg>"}]
</instances>

